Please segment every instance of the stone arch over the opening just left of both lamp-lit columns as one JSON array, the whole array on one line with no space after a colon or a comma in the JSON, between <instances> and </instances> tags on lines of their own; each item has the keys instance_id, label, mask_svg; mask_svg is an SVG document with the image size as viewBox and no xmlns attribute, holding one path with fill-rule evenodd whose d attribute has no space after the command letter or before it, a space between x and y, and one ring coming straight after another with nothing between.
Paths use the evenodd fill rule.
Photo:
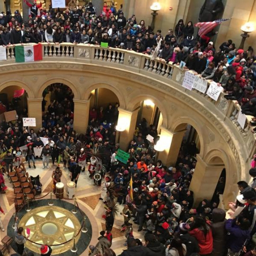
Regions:
<instances>
[{"instance_id":1,"label":"stone arch over the opening just left of both lamp-lit columns","mask_svg":"<svg viewBox=\"0 0 256 256\"><path fill-rule=\"evenodd\" d=\"M82 100L88 101L91 95L91 91L99 88L105 88L114 92L118 97L120 108L125 109L126 101L125 101L124 94L117 87L106 82L97 82L97 83L91 84L89 87L86 88L86 91L83 92Z\"/></svg>"}]
</instances>

